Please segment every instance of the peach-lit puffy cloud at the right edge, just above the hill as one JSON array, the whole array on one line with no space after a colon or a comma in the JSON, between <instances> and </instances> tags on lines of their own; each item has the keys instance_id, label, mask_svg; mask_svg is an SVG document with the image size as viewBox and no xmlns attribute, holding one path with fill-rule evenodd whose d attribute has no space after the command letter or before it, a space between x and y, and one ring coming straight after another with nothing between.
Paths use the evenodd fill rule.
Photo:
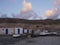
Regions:
<instances>
[{"instance_id":1,"label":"peach-lit puffy cloud at the right edge, just above the hill","mask_svg":"<svg viewBox=\"0 0 60 45\"><path fill-rule=\"evenodd\" d=\"M48 19L57 19L60 16L60 9L52 8L51 10L47 10L45 15Z\"/></svg>"}]
</instances>

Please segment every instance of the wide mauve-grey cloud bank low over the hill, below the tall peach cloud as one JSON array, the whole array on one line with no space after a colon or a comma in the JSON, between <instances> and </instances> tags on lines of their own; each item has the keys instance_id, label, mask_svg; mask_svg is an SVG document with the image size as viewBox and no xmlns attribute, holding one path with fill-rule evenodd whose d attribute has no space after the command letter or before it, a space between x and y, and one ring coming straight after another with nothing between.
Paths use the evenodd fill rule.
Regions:
<instances>
[{"instance_id":1,"label":"wide mauve-grey cloud bank low over the hill, below the tall peach cloud","mask_svg":"<svg viewBox=\"0 0 60 45\"><path fill-rule=\"evenodd\" d=\"M23 12L21 11L20 14L12 14L12 18L20 18L20 19L28 19L28 20L38 20L42 17L37 15L34 11Z\"/></svg>"}]
</instances>

